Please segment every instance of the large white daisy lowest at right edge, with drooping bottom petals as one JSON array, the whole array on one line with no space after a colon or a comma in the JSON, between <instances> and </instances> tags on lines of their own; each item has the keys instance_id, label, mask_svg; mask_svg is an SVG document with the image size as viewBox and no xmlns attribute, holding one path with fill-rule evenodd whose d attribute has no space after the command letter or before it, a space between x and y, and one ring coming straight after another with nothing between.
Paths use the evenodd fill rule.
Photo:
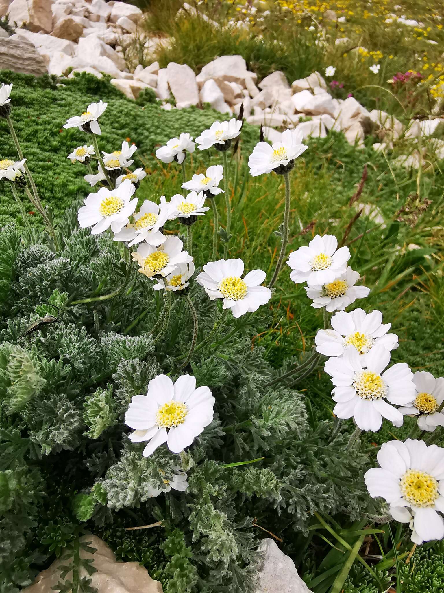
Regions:
<instances>
[{"instance_id":1,"label":"large white daisy lowest at right edge, with drooping bottom petals","mask_svg":"<svg viewBox=\"0 0 444 593\"><path fill-rule=\"evenodd\" d=\"M389 441L378 451L380 467L366 471L372 498L384 498L396 521L409 523L411 539L442 540L444 521L444 449L424 441Z\"/></svg>"}]
</instances>

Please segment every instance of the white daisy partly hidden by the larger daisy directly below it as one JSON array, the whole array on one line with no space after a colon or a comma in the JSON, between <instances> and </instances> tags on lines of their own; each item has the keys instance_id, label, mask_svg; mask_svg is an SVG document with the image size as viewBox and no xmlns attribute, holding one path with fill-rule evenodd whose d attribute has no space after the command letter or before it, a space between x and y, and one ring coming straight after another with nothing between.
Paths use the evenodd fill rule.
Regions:
<instances>
[{"instance_id":1,"label":"white daisy partly hidden by the larger daisy directly below it","mask_svg":"<svg viewBox=\"0 0 444 593\"><path fill-rule=\"evenodd\" d=\"M316 350L325 356L342 356L347 346L355 346L362 360L365 360L366 353L376 345L382 345L389 351L395 350L398 347L398 336L387 333L391 323L381 322L381 311L339 311L330 320L333 329L319 330L316 334Z\"/></svg>"}]
</instances>

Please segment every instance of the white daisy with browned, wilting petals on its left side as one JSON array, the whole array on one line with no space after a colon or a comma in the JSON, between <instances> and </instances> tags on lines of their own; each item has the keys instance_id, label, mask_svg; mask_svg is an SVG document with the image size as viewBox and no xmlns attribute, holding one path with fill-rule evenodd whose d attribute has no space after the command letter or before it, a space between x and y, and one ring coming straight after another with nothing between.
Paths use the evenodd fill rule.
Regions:
<instances>
[{"instance_id":1,"label":"white daisy with browned, wilting petals on its left side","mask_svg":"<svg viewBox=\"0 0 444 593\"><path fill-rule=\"evenodd\" d=\"M181 263L192 262L188 251L182 251L184 244L178 237L168 237L159 247L148 243L139 245L137 251L133 251L134 262L140 266L139 272L152 278L153 276L168 276L174 272Z\"/></svg>"}]
</instances>

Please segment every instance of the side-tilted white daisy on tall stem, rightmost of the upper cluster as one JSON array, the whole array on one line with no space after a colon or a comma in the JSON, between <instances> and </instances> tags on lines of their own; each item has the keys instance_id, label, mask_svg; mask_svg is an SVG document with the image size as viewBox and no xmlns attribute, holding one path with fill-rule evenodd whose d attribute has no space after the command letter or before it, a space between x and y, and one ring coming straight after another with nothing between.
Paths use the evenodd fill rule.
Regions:
<instances>
[{"instance_id":1,"label":"side-tilted white daisy on tall stem, rightmost of the upper cluster","mask_svg":"<svg viewBox=\"0 0 444 593\"><path fill-rule=\"evenodd\" d=\"M298 129L282 132L281 142L258 142L248 160L250 175L257 177L263 173L282 174L294 166L295 158L299 157L308 146L302 143L303 135Z\"/></svg>"}]
</instances>

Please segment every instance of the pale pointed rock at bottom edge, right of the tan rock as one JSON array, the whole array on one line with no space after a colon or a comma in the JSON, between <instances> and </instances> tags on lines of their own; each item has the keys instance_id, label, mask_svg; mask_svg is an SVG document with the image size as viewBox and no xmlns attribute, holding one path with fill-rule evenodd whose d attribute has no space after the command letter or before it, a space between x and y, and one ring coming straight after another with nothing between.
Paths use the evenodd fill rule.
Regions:
<instances>
[{"instance_id":1,"label":"pale pointed rock at bottom edge, right of the tan rock","mask_svg":"<svg viewBox=\"0 0 444 593\"><path fill-rule=\"evenodd\" d=\"M274 540L262 540L258 551L263 553L263 560L255 593L313 593L298 575L294 562Z\"/></svg>"}]
</instances>

